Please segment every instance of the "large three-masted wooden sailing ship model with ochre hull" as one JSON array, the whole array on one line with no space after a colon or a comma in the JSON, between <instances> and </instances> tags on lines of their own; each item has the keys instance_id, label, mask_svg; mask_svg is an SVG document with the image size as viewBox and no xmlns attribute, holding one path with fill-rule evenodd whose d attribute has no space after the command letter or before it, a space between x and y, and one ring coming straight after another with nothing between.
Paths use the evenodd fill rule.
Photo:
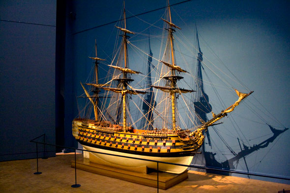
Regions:
<instances>
[{"instance_id":1,"label":"large three-masted wooden sailing ship model with ochre hull","mask_svg":"<svg viewBox=\"0 0 290 193\"><path fill-rule=\"evenodd\" d=\"M123 15L123 27L116 26L121 32L122 40L116 64L114 65L112 62L109 65L110 69L114 70L111 80L106 83L99 83L98 65L104 59L97 57L97 52L95 57L90 57L95 63L95 81L85 84L93 87L92 92L87 90L84 84L81 83L81 85L85 91L85 97L92 106L91 110L93 109L94 118L75 118L72 121L73 136L85 149L94 152L190 165L195 154L203 145L204 132L210 126L219 124L217 123L218 120L227 116L227 113L232 112L252 92L241 93L235 90L238 99L229 108L217 114L212 113L213 117L206 122L201 119L201 124L199 125L182 128L178 121L180 113L178 113L176 100L178 97L182 98L183 95L193 94L195 90L178 86L183 76L189 73L177 65L175 58L174 32L181 28L172 21L170 5L168 4L167 6L167 17L165 19L162 18L167 31L167 40L164 55L158 61L161 70L159 70L160 73L154 83L151 82L150 74L151 50L150 54L148 54L148 72L143 74L129 68L127 45L130 43L128 40L129 35L133 35L134 32L126 28L125 9ZM202 52L199 52L197 59L201 62L202 56ZM132 75L147 76L147 83L150 84L149 86L147 85L148 88L133 88L130 85L134 81L131 78ZM102 105L100 105L101 90L108 93L102 94ZM161 95L161 98L163 97L163 100L156 104L155 99L157 99L158 94ZM139 126L140 128L138 128L139 124L132 121L130 115L129 100L131 95L136 95L143 100L143 110L140 109L142 117L138 120L143 120L145 124L144 126ZM108 104L104 105L104 101ZM195 104L195 106L197 105ZM162 107L160 108L160 106ZM162 108L169 111L161 110ZM163 120L161 126L154 126L153 114ZM195 112L190 112L189 114L195 116ZM106 163L128 168L146 166L147 168L157 169L155 162L100 153L92 153L90 157L95 156ZM182 173L187 167L161 163L158 169L170 173Z\"/></svg>"}]
</instances>

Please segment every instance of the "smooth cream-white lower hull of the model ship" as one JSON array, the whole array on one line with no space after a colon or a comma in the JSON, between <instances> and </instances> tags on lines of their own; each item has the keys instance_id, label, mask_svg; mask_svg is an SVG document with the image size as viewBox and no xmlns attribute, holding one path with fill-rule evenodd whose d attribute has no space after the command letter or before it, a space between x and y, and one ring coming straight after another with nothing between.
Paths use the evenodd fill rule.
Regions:
<instances>
[{"instance_id":1,"label":"smooth cream-white lower hull of the model ship","mask_svg":"<svg viewBox=\"0 0 290 193\"><path fill-rule=\"evenodd\" d=\"M134 158L142 158L147 160L155 160L155 161L161 161L161 162L168 162L168 163L174 163L174 164L182 164L182 165L190 165L193 156L184 156L184 157L151 157L151 156L142 156L142 155L132 155L122 152L116 152L116 151L110 151L105 149L99 149L95 147L90 147L83 145L87 150L89 151L96 151L101 153L109 153L114 155L121 155L121 156L128 156L128 157L134 157ZM92 153L90 155L96 156L98 159L103 160L104 162L109 162L114 165L120 165L125 167L140 167L140 166L147 166L148 168L157 169L157 163L156 162L149 162L149 161L143 161L143 160L137 160L137 159L130 159L130 158L122 158L117 156L110 156L105 154L99 154L99 153ZM169 164L158 164L158 169L160 171L170 172L170 173L182 173L187 169L186 166L179 166L179 165L169 165Z\"/></svg>"}]
</instances>

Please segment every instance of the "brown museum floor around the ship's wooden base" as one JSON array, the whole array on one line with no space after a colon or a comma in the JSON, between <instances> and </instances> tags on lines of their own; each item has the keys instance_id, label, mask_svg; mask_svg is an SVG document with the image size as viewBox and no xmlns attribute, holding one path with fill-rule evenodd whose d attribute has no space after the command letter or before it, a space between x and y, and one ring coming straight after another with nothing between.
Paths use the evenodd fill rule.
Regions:
<instances>
[{"instance_id":1,"label":"brown museum floor around the ship's wooden base","mask_svg":"<svg viewBox=\"0 0 290 193\"><path fill-rule=\"evenodd\" d=\"M81 158L78 154L77 158ZM40 175L34 175L36 160L0 162L0 193L157 193L156 188L118 180L71 167L74 155L39 159ZM159 193L278 193L290 185L247 178L189 171L189 178Z\"/></svg>"}]
</instances>

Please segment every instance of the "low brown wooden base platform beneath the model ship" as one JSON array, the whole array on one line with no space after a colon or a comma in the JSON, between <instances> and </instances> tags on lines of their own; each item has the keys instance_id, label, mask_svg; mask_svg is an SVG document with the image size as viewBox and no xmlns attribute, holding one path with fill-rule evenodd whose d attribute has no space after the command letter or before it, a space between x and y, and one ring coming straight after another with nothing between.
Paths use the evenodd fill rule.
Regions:
<instances>
[{"instance_id":1,"label":"low brown wooden base platform beneath the model ship","mask_svg":"<svg viewBox=\"0 0 290 193\"><path fill-rule=\"evenodd\" d=\"M77 169L157 188L157 171L152 172L149 171L147 174L138 173L134 171L127 171L116 167L95 164L89 162L89 160L86 158L78 159L76 161L76 165ZM75 167L74 161L71 162L71 167ZM159 189L166 190L178 184L179 182L182 182L183 180L187 179L188 178L187 172L188 172L187 170L181 174L173 174L161 171L158 172Z\"/></svg>"}]
</instances>

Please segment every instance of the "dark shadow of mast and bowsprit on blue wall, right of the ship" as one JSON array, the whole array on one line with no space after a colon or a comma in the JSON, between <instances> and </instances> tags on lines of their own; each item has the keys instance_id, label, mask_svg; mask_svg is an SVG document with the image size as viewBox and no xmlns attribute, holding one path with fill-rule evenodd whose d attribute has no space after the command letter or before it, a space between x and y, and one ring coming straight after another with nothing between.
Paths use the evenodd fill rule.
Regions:
<instances>
[{"instance_id":1,"label":"dark shadow of mast and bowsprit on blue wall, right of the ship","mask_svg":"<svg viewBox=\"0 0 290 193\"><path fill-rule=\"evenodd\" d=\"M209 104L208 95L205 93L204 87L203 87L203 72L202 72L202 70L204 70L204 68L203 68L203 53L202 53L201 47L200 47L198 31L196 31L196 38L197 38L197 44L196 44L197 69L196 69L196 76L195 76L196 81L195 81L195 87L194 87L196 90L196 92L195 92L196 95L194 98L192 98L192 101L194 104L193 110L196 112L196 114L195 114L196 120L199 120L200 124L202 124L202 123L207 121L206 114L212 112L212 107ZM218 136L220 136L220 138L222 139L222 141L224 141L225 145L230 150L233 157L231 159L224 161L224 162L218 162L215 159L216 153L205 151L205 145L204 145L205 142L203 142L203 146L201 148L201 154L195 155L195 158L194 158L192 164L198 164L198 165L204 165L207 167L224 169L225 172L219 172L219 171L214 171L214 170L210 170L210 169L206 169L206 172L229 175L229 172L227 172L226 170L236 169L235 165L238 165L239 160L243 159L244 163L246 165L247 172L249 172L249 168L248 168L248 165L247 165L247 162L245 159L246 156L255 152L255 151L258 151L259 149L267 147L269 145L269 143L273 142L280 134L282 134L288 130L288 128L285 128L284 130L277 130L270 125L268 125L268 126L269 126L270 130L272 131L273 136L262 141L261 143L259 143L257 145L247 146L244 143L241 144L239 138L237 138L238 143L239 143L239 147L240 147L240 152L238 152L238 153L235 153L235 151L217 133ZM216 129L214 127L212 127L212 128L214 131L216 131ZM205 138L207 138L208 145L211 147L211 140L210 140L208 130L206 130L206 132L205 132ZM234 163L235 163L235 165L234 165Z\"/></svg>"}]
</instances>

